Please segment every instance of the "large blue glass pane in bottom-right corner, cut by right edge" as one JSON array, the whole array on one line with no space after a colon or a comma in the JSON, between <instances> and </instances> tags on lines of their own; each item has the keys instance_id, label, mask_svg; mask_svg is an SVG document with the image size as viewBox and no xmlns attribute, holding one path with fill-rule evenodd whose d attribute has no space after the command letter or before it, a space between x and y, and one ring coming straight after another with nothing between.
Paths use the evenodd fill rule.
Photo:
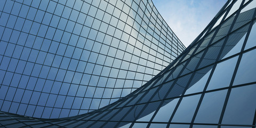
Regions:
<instances>
[{"instance_id":1,"label":"large blue glass pane in bottom-right corner, cut by right edge","mask_svg":"<svg viewBox=\"0 0 256 128\"><path fill-rule=\"evenodd\" d=\"M256 108L256 85L231 90L222 124L252 125Z\"/></svg>"}]
</instances>

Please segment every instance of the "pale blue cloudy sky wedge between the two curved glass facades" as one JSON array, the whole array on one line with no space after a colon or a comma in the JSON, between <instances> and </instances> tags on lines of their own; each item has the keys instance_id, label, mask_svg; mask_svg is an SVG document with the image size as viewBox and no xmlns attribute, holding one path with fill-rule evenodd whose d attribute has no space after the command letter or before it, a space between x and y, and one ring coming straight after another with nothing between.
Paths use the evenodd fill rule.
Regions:
<instances>
[{"instance_id":1,"label":"pale blue cloudy sky wedge between the two curved glass facades","mask_svg":"<svg viewBox=\"0 0 256 128\"><path fill-rule=\"evenodd\" d=\"M163 19L187 47L227 0L152 0Z\"/></svg>"}]
</instances>

